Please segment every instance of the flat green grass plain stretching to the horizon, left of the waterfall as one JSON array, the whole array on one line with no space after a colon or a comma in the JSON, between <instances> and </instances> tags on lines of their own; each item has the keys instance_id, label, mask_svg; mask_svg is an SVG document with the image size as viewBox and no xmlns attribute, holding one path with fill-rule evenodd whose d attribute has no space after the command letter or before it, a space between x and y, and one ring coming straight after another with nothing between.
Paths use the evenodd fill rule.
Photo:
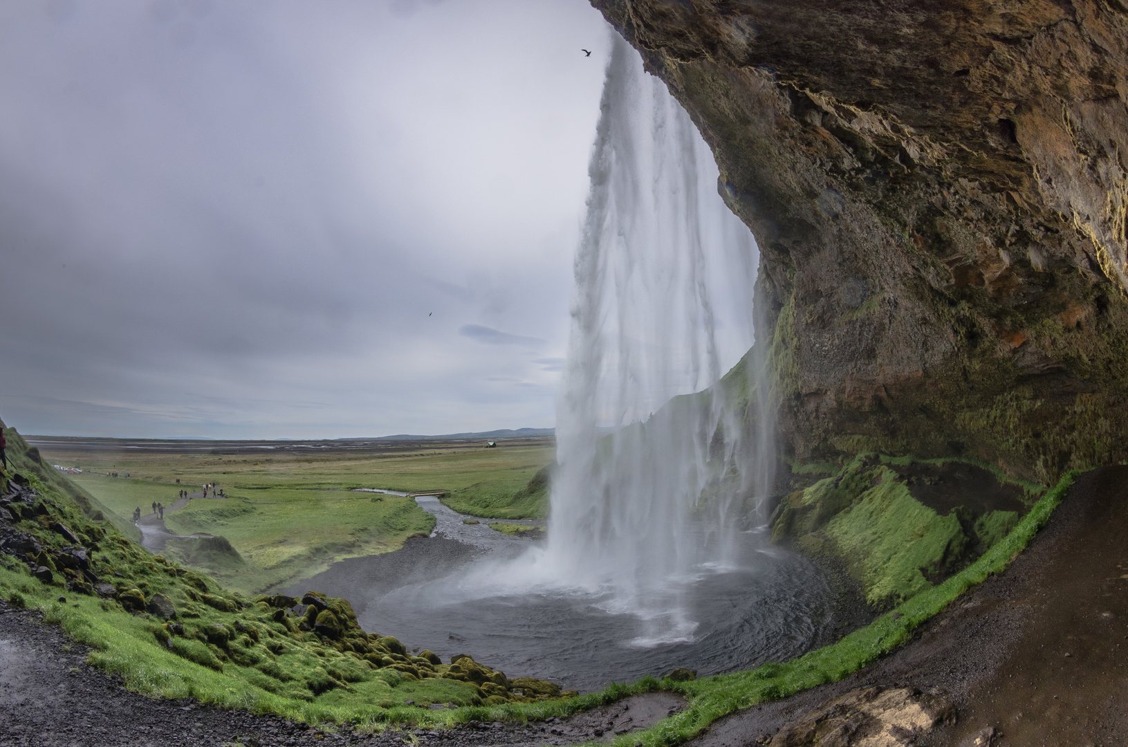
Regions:
<instances>
[{"instance_id":1,"label":"flat green grass plain stretching to the horizon, left of the waterfall","mask_svg":"<svg viewBox=\"0 0 1128 747\"><path fill-rule=\"evenodd\" d=\"M120 522L127 522L135 507L148 513L153 501L170 507L182 487L222 486L227 500L194 500L179 511L166 512L165 524L177 534L222 536L233 552L195 552L192 543L173 542L167 554L246 594L299 582L338 560L397 550L407 537L430 533L434 526L432 515L411 499L349 492L352 489L442 490L456 502L469 498L456 510L468 509L476 516L544 516L544 491L530 493L526 487L555 457L548 442L502 442L494 449L405 448L391 454L41 450L52 464L83 469L73 481ZM131 476L108 477L109 472ZM501 513L477 513L475 498L506 507Z\"/></svg>"}]
</instances>

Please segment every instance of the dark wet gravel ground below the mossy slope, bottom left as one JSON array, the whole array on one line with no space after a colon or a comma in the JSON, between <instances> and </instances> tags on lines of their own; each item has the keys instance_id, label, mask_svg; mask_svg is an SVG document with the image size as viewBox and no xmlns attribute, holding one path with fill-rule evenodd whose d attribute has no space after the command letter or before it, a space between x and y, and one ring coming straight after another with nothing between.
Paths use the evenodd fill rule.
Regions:
<instances>
[{"instance_id":1,"label":"dark wet gravel ground below the mossy slope, bottom left","mask_svg":"<svg viewBox=\"0 0 1128 747\"><path fill-rule=\"evenodd\" d=\"M0 600L0 746L403 747L413 739L442 747L565 745L645 728L682 706L679 697L655 693L543 723L470 723L376 735L345 727L325 732L247 711L131 693L120 679L87 665L87 651L41 622L38 613Z\"/></svg>"}]
</instances>

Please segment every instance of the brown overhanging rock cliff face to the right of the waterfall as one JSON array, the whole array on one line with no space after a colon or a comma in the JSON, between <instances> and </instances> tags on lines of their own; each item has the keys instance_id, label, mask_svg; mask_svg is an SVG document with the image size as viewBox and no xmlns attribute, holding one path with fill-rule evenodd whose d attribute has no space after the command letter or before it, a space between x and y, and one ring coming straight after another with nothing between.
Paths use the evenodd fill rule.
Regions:
<instances>
[{"instance_id":1,"label":"brown overhanging rock cliff face to the right of the waterfall","mask_svg":"<svg viewBox=\"0 0 1128 747\"><path fill-rule=\"evenodd\" d=\"M795 456L1128 458L1128 6L592 2L760 245Z\"/></svg>"}]
</instances>

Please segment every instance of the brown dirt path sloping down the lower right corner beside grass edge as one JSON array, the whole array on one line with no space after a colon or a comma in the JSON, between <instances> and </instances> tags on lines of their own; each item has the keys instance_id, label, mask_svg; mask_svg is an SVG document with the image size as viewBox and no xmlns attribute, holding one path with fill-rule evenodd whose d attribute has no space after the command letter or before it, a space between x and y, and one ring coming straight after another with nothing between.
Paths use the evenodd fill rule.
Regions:
<instances>
[{"instance_id":1,"label":"brown dirt path sloping down the lower right corner beside grass edge","mask_svg":"<svg viewBox=\"0 0 1128 747\"><path fill-rule=\"evenodd\" d=\"M1107 467L1077 480L1010 569L957 599L906 647L840 683L738 712L691 744L760 744L857 688L907 687L949 700L957 722L915 741L880 744L1125 745L1126 654L1128 467ZM860 729L827 744L863 744L865 736Z\"/></svg>"}]
</instances>

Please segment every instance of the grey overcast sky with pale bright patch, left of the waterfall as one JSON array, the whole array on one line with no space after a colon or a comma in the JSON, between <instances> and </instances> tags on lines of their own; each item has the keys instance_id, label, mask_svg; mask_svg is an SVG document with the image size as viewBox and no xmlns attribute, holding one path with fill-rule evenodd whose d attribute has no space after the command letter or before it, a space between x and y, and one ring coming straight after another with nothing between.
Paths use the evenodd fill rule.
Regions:
<instances>
[{"instance_id":1,"label":"grey overcast sky with pale bright patch, left of the waterfall","mask_svg":"<svg viewBox=\"0 0 1128 747\"><path fill-rule=\"evenodd\" d=\"M0 416L553 425L608 44L583 0L0 3Z\"/></svg>"}]
</instances>

